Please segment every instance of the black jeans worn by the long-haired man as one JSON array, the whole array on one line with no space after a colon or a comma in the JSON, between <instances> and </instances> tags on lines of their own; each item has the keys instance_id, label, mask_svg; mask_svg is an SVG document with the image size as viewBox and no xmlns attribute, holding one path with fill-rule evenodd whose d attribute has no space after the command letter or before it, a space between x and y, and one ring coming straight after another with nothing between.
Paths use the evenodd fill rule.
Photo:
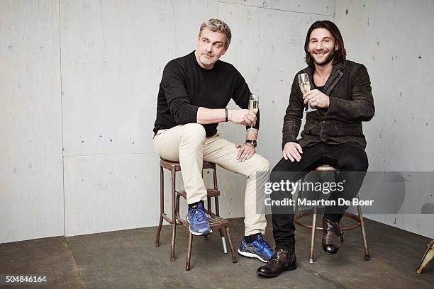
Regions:
<instances>
[{"instance_id":1,"label":"black jeans worn by the long-haired man","mask_svg":"<svg viewBox=\"0 0 434 289\"><path fill-rule=\"evenodd\" d=\"M286 180L296 182L323 164L328 164L339 170L338 179L335 180L337 183L345 180L343 191L334 191L330 194L328 200L338 200L338 198L350 200L354 198L362 186L368 168L365 149L355 142L339 145L328 145L321 142L311 147L304 147L300 162L291 162L289 159L282 158L274 166L271 181L272 183L280 183ZM291 198L291 193L288 191L274 191L271 197L272 200L282 200L282 198ZM335 222L340 220L342 213L348 207L340 206L338 208L340 208L340 211L336 213L336 207L326 207L325 215L330 216L330 219L335 219L333 220ZM272 206L272 220L276 249L293 249L295 245L293 212L286 210L286 212L282 213L276 206Z\"/></svg>"}]
</instances>

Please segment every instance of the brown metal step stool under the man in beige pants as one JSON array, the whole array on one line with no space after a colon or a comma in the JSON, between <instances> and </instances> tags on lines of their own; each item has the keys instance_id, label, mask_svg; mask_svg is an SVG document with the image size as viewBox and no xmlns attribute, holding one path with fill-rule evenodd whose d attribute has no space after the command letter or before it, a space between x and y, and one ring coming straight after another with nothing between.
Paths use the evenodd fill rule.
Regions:
<instances>
[{"instance_id":1,"label":"brown metal step stool under the man in beige pants","mask_svg":"<svg viewBox=\"0 0 434 289\"><path fill-rule=\"evenodd\" d=\"M172 217L169 217L165 213L165 175L164 170L167 169L170 171L170 174L172 176ZM235 251L233 249L233 243L232 239L230 238L230 232L229 232L229 221L226 219L223 219L220 217L219 207L218 207L218 196L220 196L220 191L218 191L217 187L217 171L216 171L216 164L211 162L204 162L203 169L212 169L213 170L213 186L214 188L207 188L207 206L208 214L211 216L211 218L208 218L209 225L212 229L218 229L218 232L220 232L221 241L223 244L223 252L225 254L228 253L228 249L226 248L226 240L223 234L223 228L226 230L226 235L228 237L229 247L230 251L232 253L232 261L235 263L237 261L237 257L235 255ZM179 216L179 198L183 197L187 199L187 193L185 191L177 191L175 188L175 181L176 181L176 173L177 171L181 171L181 165L179 162L170 162L165 159L160 159L160 222L158 223L158 229L157 229L157 236L155 237L155 246L160 246L160 232L162 228L162 222L163 219L169 222L170 225L172 225L172 244L170 246L170 261L174 261L174 246L175 246L175 237L176 237L176 227L177 225L184 225L189 229L189 222L187 220L182 219L182 217ZM175 201L176 196L176 201ZM211 211L211 198L214 198L214 205L216 207L216 212L213 213ZM205 239L208 239L208 236L205 236ZM190 270L190 259L191 259L191 246L193 244L193 234L189 232L189 251L187 253L187 260L185 263L185 270Z\"/></svg>"}]
</instances>

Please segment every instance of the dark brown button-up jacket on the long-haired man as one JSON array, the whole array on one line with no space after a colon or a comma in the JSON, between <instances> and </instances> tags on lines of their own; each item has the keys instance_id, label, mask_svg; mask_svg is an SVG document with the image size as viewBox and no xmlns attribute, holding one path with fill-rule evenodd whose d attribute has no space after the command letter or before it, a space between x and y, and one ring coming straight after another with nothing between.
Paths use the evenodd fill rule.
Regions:
<instances>
[{"instance_id":1,"label":"dark brown button-up jacket on the long-haired man","mask_svg":"<svg viewBox=\"0 0 434 289\"><path fill-rule=\"evenodd\" d=\"M365 148L362 121L374 116L374 98L366 67L350 60L333 65L323 88L323 93L330 96L330 106L306 113L304 130L301 138L296 140L304 115L303 94L297 75L306 72L311 89L315 89L313 71L313 67L306 67L294 77L284 117L282 147L286 142L299 142L301 147L315 142L357 142Z\"/></svg>"}]
</instances>

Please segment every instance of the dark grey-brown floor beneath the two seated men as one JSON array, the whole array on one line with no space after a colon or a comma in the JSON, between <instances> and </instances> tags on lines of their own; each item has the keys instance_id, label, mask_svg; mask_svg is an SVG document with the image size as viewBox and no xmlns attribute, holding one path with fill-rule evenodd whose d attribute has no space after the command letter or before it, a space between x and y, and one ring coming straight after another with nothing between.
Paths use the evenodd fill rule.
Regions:
<instances>
[{"instance_id":1,"label":"dark grey-brown floor beneath the two seated men","mask_svg":"<svg viewBox=\"0 0 434 289\"><path fill-rule=\"evenodd\" d=\"M238 246L243 219L230 224ZM323 253L318 234L313 264L307 257L310 231L297 227L299 267L277 278L257 276L262 263L255 259L238 255L232 263L221 251L218 232L208 241L194 237L191 271L184 271L187 229L177 227L177 259L171 262L169 226L163 227L158 248L155 227L0 244L0 274L38 273L49 279L45 285L16 288L434 288L434 263L415 273L428 238L371 220L366 225L371 261L363 260L360 229L355 229L345 232L334 256ZM274 246L270 222L268 230L266 239Z\"/></svg>"}]
</instances>

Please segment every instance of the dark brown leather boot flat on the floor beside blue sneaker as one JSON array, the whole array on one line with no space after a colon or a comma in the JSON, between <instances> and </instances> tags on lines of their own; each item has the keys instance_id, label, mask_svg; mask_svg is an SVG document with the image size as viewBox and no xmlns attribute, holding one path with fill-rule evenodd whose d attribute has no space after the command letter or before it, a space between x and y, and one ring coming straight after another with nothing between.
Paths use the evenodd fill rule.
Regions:
<instances>
[{"instance_id":1,"label":"dark brown leather boot flat on the floor beside blue sneaker","mask_svg":"<svg viewBox=\"0 0 434 289\"><path fill-rule=\"evenodd\" d=\"M277 249L267 265L257 268L256 273L265 277L277 277L284 271L291 271L297 268L295 250L286 251Z\"/></svg>"}]
</instances>

